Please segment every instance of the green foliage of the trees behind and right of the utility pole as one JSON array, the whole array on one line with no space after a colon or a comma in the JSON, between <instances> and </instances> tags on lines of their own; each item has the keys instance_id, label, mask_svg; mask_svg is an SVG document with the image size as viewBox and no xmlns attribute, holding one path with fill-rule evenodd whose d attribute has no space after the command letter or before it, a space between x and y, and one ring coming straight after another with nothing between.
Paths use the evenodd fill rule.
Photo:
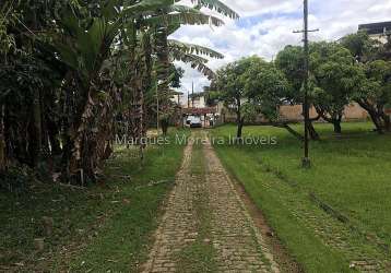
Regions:
<instances>
[{"instance_id":1,"label":"green foliage of the trees behind and right of the utility pole","mask_svg":"<svg viewBox=\"0 0 391 273\"><path fill-rule=\"evenodd\" d=\"M339 124L346 105L357 102L378 124L387 127L388 118L383 107L389 100L384 94L389 90L386 84L384 69L377 71L380 79L374 79L368 71L371 62L382 56L384 46L371 39L366 32L358 32L343 37L339 43L313 43L310 45L310 103L319 117ZM387 51L387 50L386 50ZM287 46L279 52L276 67L284 72L292 88L287 88L285 99L291 104L303 103L304 51L298 46ZM369 67L368 67L369 66ZM382 76L384 75L384 76ZM377 119L383 119L377 120Z\"/></svg>"}]
</instances>

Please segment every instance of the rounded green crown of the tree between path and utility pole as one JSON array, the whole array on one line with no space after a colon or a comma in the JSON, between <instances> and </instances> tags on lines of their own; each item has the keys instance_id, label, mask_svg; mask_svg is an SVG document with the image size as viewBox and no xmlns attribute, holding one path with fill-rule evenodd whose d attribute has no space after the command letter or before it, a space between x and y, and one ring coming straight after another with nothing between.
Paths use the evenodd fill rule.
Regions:
<instances>
[{"instance_id":1,"label":"rounded green crown of the tree between path and utility pole","mask_svg":"<svg viewBox=\"0 0 391 273\"><path fill-rule=\"evenodd\" d=\"M225 105L253 120L262 114L270 120L279 117L279 106L291 90L285 75L273 63L259 57L244 58L217 71L213 87Z\"/></svg>"}]
</instances>

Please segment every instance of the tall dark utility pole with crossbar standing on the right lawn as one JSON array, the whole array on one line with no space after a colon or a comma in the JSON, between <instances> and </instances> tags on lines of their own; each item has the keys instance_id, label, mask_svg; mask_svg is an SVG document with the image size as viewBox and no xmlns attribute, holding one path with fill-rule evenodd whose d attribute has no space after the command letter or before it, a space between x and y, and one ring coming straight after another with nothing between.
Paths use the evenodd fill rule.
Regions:
<instances>
[{"instance_id":1,"label":"tall dark utility pole with crossbar standing on the right lawn","mask_svg":"<svg viewBox=\"0 0 391 273\"><path fill-rule=\"evenodd\" d=\"M308 29L308 0L304 0L304 31L296 31L294 33L304 33L304 123L305 123L305 135L304 135L304 157L301 161L301 165L304 168L311 167L311 161L309 158L309 138L308 138L308 128L309 128L309 99L308 99L308 82L309 82L309 41L308 41L308 33L318 32L319 29Z\"/></svg>"}]
</instances>

